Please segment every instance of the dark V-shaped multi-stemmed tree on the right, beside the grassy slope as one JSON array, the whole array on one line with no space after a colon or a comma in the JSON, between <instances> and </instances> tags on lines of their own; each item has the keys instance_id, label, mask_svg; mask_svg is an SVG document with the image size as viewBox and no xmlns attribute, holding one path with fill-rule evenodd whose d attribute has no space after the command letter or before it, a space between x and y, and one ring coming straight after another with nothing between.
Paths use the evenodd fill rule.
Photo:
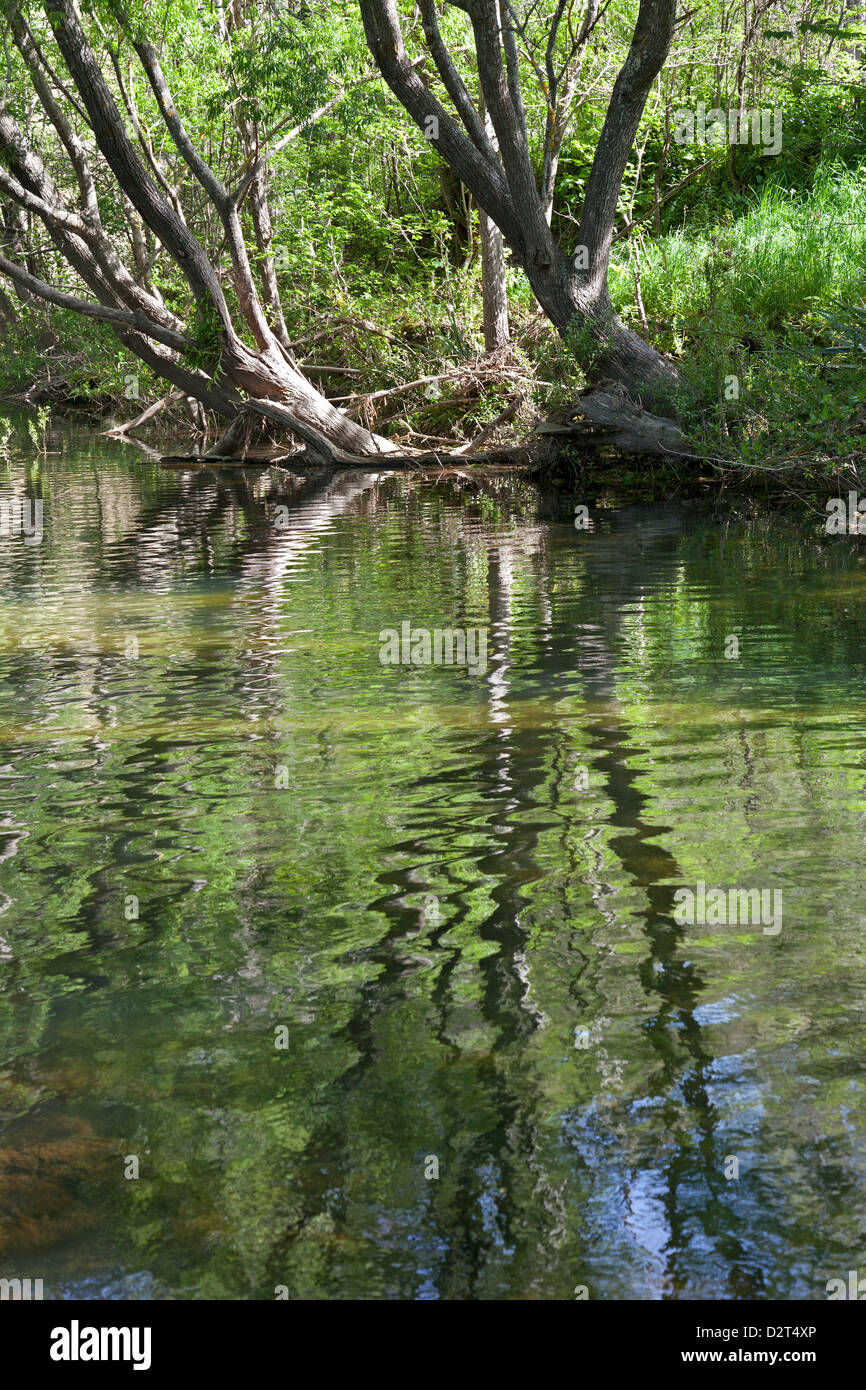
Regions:
<instances>
[{"instance_id":1,"label":"dark V-shaped multi-stemmed tree on the right, beside the grassy slope","mask_svg":"<svg viewBox=\"0 0 866 1390\"><path fill-rule=\"evenodd\" d=\"M578 254L569 257L549 227L552 179L573 101L577 53L596 11L592 0L578 28L580 43L566 60L559 106L550 108L544 188L530 153L518 44L535 21L537 6L521 18L510 0L455 0L468 17L484 106L496 140L485 131L457 63L445 43L434 0L421 0L424 33L446 110L406 53L396 0L359 0L375 64L405 110L432 136L442 158L467 185L500 229L527 274L532 292L559 334L575 345L596 377L613 377L642 403L670 403L678 378L671 364L623 324L607 293L607 263L623 172L652 82L664 64L676 22L676 0L641 0L631 47L616 79L587 185ZM556 46L567 0L556 0L546 22L546 53ZM548 93L550 96L550 93ZM556 96L556 93L553 93ZM431 125L431 122L434 122ZM430 135L428 135L430 138Z\"/></svg>"}]
</instances>

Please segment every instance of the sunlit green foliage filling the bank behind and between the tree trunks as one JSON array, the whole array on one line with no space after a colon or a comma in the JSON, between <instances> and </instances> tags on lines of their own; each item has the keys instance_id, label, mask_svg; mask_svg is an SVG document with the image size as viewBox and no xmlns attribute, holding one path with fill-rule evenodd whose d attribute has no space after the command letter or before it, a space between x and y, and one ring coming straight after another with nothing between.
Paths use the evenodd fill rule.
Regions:
<instances>
[{"instance_id":1,"label":"sunlit green foliage filling the bank behind and between the tree trunks","mask_svg":"<svg viewBox=\"0 0 866 1390\"><path fill-rule=\"evenodd\" d=\"M521 76L530 149L541 174L548 103L530 60L532 53L544 58L542 50L532 50L541 33L532 26L550 6L531 10ZM413 8L405 11L411 46ZM628 50L635 13L635 0L614 0L581 57L553 207L566 252L578 236L610 74ZM36 10L31 22L51 44ZM758 448L755 441L760 448L812 448L827 423L834 441L848 446L859 432L855 398L863 353L845 332L858 328L853 310L866 295L866 86L853 54L858 29L840 26L830 13L788 22L771 11L763 28L748 35L742 22L730 0L706 0L678 31L676 61L651 92L626 170L610 295L637 332L681 364L684 420L708 448ZM259 7L242 0L229 17L217 0L165 0L157 15L146 0L124 7L95 0L86 24L97 49L107 44L113 51L113 64L106 61L113 85L125 74L136 120L154 143L165 182L179 189L189 229L221 272L236 324L242 316L224 228L165 135L156 97L135 64L136 35L158 49L186 129L227 186L236 186L249 168L250 147L271 150L272 245L257 246L249 199L240 203L240 218L254 270L265 254L274 261L289 338L299 343L299 360L313 364L314 382L338 403L379 393L370 423L385 434L416 430L459 438L461 428L470 434L498 413L510 389L507 377L481 396L461 396L461 388L446 385L435 402L420 391L393 402L381 398L388 388L435 375L449 363L470 363L481 352L481 261L477 210L443 172L435 146L371 76L354 6L270 0ZM467 15L445 7L441 25L477 95ZM560 57L567 42L563 29ZM745 44L741 93L730 61L738 44ZM29 86L14 46L7 78L10 110L26 121ZM442 96L432 70L424 70L424 79ZM740 95L746 108L780 113L778 154L769 157L752 143L673 139L678 110L695 110L699 101L724 110ZM44 153L51 175L75 200L65 152L46 140ZM103 225L129 261L128 208L110 181L99 193ZM623 235L627 225L632 231ZM160 253L150 232L143 236L152 284L193 339L189 366L217 377L217 316L196 314L177 264ZM68 279L68 267L50 247L40 247L40 256L44 274ZM525 371L530 402L537 409L566 404L598 368L603 343L578 324L559 342L549 327L539 328L523 275L509 271L507 279L513 363ZM81 291L74 279L68 288ZM331 331L322 332L322 325ZM135 373L145 400L164 391L107 329L74 316L31 306L6 336L0 389L47 377L51 389L63 382L65 399L117 404ZM731 377L737 399L726 395Z\"/></svg>"}]
</instances>

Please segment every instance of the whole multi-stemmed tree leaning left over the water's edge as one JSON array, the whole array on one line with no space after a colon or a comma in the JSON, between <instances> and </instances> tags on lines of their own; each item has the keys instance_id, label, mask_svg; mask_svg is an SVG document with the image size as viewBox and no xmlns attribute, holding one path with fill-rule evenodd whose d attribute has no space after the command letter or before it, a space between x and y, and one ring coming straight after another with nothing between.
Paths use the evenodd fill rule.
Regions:
<instances>
[{"instance_id":1,"label":"whole multi-stemmed tree leaning left over the water's edge","mask_svg":"<svg viewBox=\"0 0 866 1390\"><path fill-rule=\"evenodd\" d=\"M58 186L22 122L4 103L0 196L42 222L56 252L93 299L58 289L19 259L0 256L0 271L31 295L104 320L154 373L229 421L228 435L215 450L239 448L252 418L264 417L300 436L313 456L331 457L334 446L350 455L393 452L391 441L348 418L316 391L292 356L270 259L267 156L257 153L257 132L249 120L242 115L239 121L246 149L243 174L229 189L192 139L140 18L117 10L114 38L101 29L96 15L92 19L114 68L114 86L125 106L121 111L75 0L47 0L47 31L35 6L4 0L3 10L42 113L68 158L75 188L70 193ZM239 29L245 22L243 7L234 4L225 18L228 29ZM51 36L54 61L46 54ZM124 81L121 42L131 50L126 57L138 58L156 103L156 118L218 218L231 260L234 311L221 284L220 264L190 229L178 188L167 179L154 142L139 118L132 86ZM61 65L68 75L65 81L56 71ZM240 225L240 203L247 195L260 253L261 293ZM124 234L133 247L133 268L118 249ZM168 307L154 289L147 236L153 257L164 252L179 271L189 296L186 313Z\"/></svg>"}]
</instances>

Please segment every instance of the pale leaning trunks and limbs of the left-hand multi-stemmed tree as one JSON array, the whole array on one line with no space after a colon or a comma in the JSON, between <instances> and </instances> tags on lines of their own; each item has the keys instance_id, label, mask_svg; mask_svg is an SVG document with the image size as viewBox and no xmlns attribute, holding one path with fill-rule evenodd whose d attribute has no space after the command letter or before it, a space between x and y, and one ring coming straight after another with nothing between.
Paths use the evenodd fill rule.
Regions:
<instances>
[{"instance_id":1,"label":"pale leaning trunks and limbs of the left-hand multi-stemmed tree","mask_svg":"<svg viewBox=\"0 0 866 1390\"><path fill-rule=\"evenodd\" d=\"M164 179L154 177L129 138L113 90L85 35L75 0L50 0L50 4L46 0L44 11L81 106L58 83L42 49L33 43L26 18L15 0L4 0L3 10L10 19L13 38L28 68L36 97L74 170L81 206L79 208L67 206L42 158L29 149L7 110L0 110L0 154L3 154L0 193L21 208L21 215L40 218L57 250L95 293L96 303L56 291L33 265L24 270L19 264L4 261L4 274L19 289L110 322L124 346L136 353L153 371L185 396L195 398L207 410L227 420L243 413L247 403L268 402L274 407L271 418L297 434L309 448L316 446L321 456L327 456L331 446L354 456L393 452L396 446L391 441L373 435L345 416L316 391L297 368L291 352L279 341L281 336L288 341L288 335L275 285L265 277L265 300L277 320L274 325L268 322L243 242L238 202L228 195L195 149L175 108L156 50L140 33L140 25L133 26L122 10L118 11L126 31L138 35L132 39L132 47L150 82L163 122L178 153L220 215L232 260L234 288L257 352L245 346L232 324L217 265L190 232L179 213L179 204L167 197ZM117 76L120 64L117 54L113 57ZM118 85L122 86L120 78ZM92 175L89 153L78 140L60 106L60 99L54 96L56 90L60 90L82 117L86 113L96 150L122 195L122 211L140 218L183 275L195 304L193 329L183 332L182 321L167 310L161 297L124 265L99 214L96 188L104 181L106 171L99 171L99 181ZM132 100L125 88L122 95L124 100L126 97ZM129 108L129 101L126 104ZM264 179L264 174L261 178ZM263 181L257 193L256 231L261 249L267 250L270 213ZM24 249L25 253L31 249L29 238ZM247 402L245 396L250 400Z\"/></svg>"}]
</instances>

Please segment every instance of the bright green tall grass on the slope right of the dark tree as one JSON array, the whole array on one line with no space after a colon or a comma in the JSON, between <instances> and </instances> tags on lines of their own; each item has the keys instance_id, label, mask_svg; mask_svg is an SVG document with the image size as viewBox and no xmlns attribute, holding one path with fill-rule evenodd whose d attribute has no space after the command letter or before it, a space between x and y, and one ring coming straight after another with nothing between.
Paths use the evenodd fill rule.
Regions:
<instances>
[{"instance_id":1,"label":"bright green tall grass on the slope right of the dark tree","mask_svg":"<svg viewBox=\"0 0 866 1390\"><path fill-rule=\"evenodd\" d=\"M634 254L617 246L610 291L639 327ZM649 336L681 359L685 414L709 443L819 461L866 450L866 346L838 329L866 302L866 164L823 164L808 192L767 181L713 232L645 234L639 278Z\"/></svg>"}]
</instances>

